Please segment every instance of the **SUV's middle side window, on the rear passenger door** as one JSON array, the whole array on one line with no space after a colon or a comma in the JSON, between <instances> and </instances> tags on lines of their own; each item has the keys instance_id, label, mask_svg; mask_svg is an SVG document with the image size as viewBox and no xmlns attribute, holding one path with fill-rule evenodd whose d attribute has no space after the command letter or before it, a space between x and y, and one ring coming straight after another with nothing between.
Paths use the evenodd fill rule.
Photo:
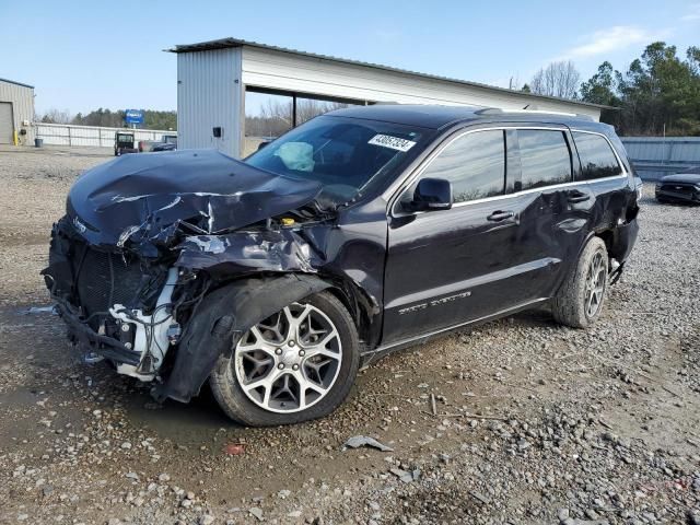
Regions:
<instances>
[{"instance_id":1,"label":"SUV's middle side window, on the rear passenger door","mask_svg":"<svg viewBox=\"0 0 700 525\"><path fill-rule=\"evenodd\" d=\"M571 153L563 131L518 129L522 189L571 182Z\"/></svg>"}]
</instances>

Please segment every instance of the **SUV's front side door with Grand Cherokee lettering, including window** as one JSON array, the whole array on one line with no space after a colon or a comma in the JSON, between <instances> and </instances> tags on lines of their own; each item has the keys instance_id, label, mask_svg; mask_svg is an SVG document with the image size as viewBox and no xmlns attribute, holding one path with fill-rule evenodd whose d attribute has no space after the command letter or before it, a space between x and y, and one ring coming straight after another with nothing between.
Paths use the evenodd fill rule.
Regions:
<instances>
[{"instance_id":1,"label":"SUV's front side door with Grand Cherokee lettering, including window","mask_svg":"<svg viewBox=\"0 0 700 525\"><path fill-rule=\"evenodd\" d=\"M413 183L389 219L383 343L479 318L506 306L517 217L505 195L506 132L467 132L452 140L422 177L452 183L450 210L402 213ZM500 284L499 284L500 282Z\"/></svg>"}]
</instances>

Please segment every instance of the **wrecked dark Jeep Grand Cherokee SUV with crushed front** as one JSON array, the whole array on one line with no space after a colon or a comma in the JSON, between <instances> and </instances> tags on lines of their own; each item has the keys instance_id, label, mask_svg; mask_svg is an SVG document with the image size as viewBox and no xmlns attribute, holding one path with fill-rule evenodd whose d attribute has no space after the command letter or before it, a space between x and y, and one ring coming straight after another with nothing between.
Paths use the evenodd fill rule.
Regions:
<instances>
[{"instance_id":1,"label":"wrecked dark Jeep Grand Cherokee SUV with crushed front","mask_svg":"<svg viewBox=\"0 0 700 525\"><path fill-rule=\"evenodd\" d=\"M572 115L373 106L245 162L127 155L86 172L46 283L89 361L246 424L334 410L358 368L549 303L585 327L637 237L609 126Z\"/></svg>"}]
</instances>

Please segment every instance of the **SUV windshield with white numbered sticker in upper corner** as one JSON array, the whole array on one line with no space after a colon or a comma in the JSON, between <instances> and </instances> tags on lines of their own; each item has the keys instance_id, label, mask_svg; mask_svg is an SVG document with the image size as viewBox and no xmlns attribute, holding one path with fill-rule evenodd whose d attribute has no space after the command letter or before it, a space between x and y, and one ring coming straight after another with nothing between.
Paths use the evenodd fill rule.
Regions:
<instances>
[{"instance_id":1,"label":"SUV windshield with white numbered sticker in upper corner","mask_svg":"<svg viewBox=\"0 0 700 525\"><path fill-rule=\"evenodd\" d=\"M316 117L245 162L323 183L322 198L352 200L370 183L394 178L425 142L423 128L358 118Z\"/></svg>"}]
</instances>

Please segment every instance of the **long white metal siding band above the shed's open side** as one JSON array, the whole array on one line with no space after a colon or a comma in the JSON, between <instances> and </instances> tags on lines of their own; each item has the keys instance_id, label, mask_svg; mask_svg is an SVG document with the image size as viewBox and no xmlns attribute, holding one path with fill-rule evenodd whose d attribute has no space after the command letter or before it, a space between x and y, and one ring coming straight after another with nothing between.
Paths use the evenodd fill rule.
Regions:
<instances>
[{"instance_id":1,"label":"long white metal siding band above the shed's open side","mask_svg":"<svg viewBox=\"0 0 700 525\"><path fill-rule=\"evenodd\" d=\"M522 109L529 104L540 110L579 113L595 120L600 117L599 109L575 103L533 100L525 94L283 51L254 47L242 49L245 85L401 104L477 105L503 109ZM178 57L189 55L195 54L180 54Z\"/></svg>"}]
</instances>

